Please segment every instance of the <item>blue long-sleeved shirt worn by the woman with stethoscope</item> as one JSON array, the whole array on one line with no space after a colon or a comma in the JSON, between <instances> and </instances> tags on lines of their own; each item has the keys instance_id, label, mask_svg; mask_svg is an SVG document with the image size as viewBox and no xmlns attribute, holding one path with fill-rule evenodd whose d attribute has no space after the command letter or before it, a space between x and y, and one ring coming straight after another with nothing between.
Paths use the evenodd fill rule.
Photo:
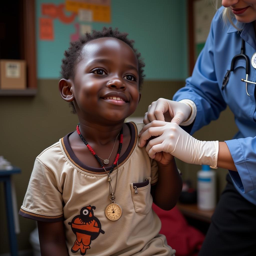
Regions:
<instances>
[{"instance_id":1,"label":"blue long-sleeved shirt worn by the woman with stethoscope","mask_svg":"<svg viewBox=\"0 0 256 256\"><path fill-rule=\"evenodd\" d=\"M215 14L204 49L201 51L191 77L186 79L186 86L178 90L173 100L190 99L197 106L197 115L192 127L183 127L190 134L202 126L216 120L228 105L234 114L239 132L228 145L238 172L229 171L235 187L248 201L256 205L256 112L255 84L248 83L246 94L245 60L236 61L235 70L222 91L222 81L230 69L232 58L240 54L241 39L245 41L245 54L251 60L256 52L255 31L252 23L234 24L242 29L238 33L230 23L222 19L223 7ZM250 64L249 81L256 81L256 69Z\"/></svg>"}]
</instances>

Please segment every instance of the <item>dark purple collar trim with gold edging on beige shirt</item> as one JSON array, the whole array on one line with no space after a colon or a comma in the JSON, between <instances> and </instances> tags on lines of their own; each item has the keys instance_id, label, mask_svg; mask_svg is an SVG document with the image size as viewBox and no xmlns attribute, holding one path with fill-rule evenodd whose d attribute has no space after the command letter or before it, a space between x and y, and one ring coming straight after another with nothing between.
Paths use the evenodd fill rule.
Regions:
<instances>
[{"instance_id":1,"label":"dark purple collar trim with gold edging on beige shirt","mask_svg":"<svg viewBox=\"0 0 256 256\"><path fill-rule=\"evenodd\" d=\"M120 164L118 165L118 167L120 167L122 164L124 164L128 160L128 158L131 156L137 144L138 131L137 131L136 125L133 122L126 123L126 125L128 125L131 132L131 141L125 153L119 158ZM71 133L67 134L65 137L61 139L61 145L69 161L84 172L91 173L91 174L106 174L105 171L102 172L102 168L94 168L94 167L85 165L76 157L68 141L68 137L70 136ZM114 170L116 168L117 167L115 167ZM106 167L105 169L106 171L109 171L111 169L111 166Z\"/></svg>"}]
</instances>

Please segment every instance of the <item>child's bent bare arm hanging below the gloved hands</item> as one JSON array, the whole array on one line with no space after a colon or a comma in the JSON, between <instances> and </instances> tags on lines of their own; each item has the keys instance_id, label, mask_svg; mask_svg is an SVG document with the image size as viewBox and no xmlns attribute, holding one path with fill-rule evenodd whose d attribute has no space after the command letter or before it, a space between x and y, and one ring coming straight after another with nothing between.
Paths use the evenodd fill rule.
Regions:
<instances>
[{"instance_id":1,"label":"child's bent bare arm hanging below the gloved hands","mask_svg":"<svg viewBox=\"0 0 256 256\"><path fill-rule=\"evenodd\" d=\"M161 161L157 162L158 180L151 189L154 203L163 210L170 210L176 205L182 190L182 178L174 157L168 162L166 164L161 163Z\"/></svg>"}]
</instances>

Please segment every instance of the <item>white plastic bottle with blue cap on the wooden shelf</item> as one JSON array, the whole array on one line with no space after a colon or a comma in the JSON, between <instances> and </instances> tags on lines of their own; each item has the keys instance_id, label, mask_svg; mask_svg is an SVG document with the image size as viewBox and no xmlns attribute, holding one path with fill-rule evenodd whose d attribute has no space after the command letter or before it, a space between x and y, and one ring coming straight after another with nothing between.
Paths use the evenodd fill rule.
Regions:
<instances>
[{"instance_id":1,"label":"white plastic bottle with blue cap on the wooden shelf","mask_svg":"<svg viewBox=\"0 0 256 256\"><path fill-rule=\"evenodd\" d=\"M197 206L201 210L212 210L216 206L216 172L209 165L202 165L197 172Z\"/></svg>"}]
</instances>

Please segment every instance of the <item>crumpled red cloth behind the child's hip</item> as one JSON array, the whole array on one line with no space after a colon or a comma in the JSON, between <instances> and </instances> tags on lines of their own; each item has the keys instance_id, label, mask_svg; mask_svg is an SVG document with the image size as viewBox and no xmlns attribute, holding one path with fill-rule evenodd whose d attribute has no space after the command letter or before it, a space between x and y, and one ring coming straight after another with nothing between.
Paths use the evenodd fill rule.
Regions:
<instances>
[{"instance_id":1,"label":"crumpled red cloth behind the child's hip","mask_svg":"<svg viewBox=\"0 0 256 256\"><path fill-rule=\"evenodd\" d=\"M204 234L188 225L179 209L175 206L170 211L162 210L155 204L152 206L161 219L162 228L167 243L176 250L176 256L196 256L204 241Z\"/></svg>"}]
</instances>

